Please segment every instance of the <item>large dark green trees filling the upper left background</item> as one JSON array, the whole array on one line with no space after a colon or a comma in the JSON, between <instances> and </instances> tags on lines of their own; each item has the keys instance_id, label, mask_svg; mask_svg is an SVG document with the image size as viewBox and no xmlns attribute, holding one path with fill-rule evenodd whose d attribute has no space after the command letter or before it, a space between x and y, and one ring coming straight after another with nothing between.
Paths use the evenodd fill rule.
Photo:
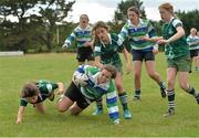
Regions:
<instances>
[{"instance_id":1,"label":"large dark green trees filling the upper left background","mask_svg":"<svg viewBox=\"0 0 199 138\"><path fill-rule=\"evenodd\" d=\"M53 47L55 22L61 22L75 1L65 0L2 0L0 31L8 50L28 50L36 42ZM9 15L18 21L10 21Z\"/></svg>"}]
</instances>

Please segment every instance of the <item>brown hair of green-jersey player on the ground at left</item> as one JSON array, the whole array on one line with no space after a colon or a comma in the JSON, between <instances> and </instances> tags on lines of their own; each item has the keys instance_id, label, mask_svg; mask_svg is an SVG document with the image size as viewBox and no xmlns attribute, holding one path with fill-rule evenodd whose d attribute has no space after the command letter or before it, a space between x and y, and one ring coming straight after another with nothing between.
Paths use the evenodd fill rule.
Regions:
<instances>
[{"instance_id":1,"label":"brown hair of green-jersey player on the ground at left","mask_svg":"<svg viewBox=\"0 0 199 138\"><path fill-rule=\"evenodd\" d=\"M39 88L36 87L36 85L34 83L28 83L23 86L23 89L21 92L21 97L25 98L25 97L32 97L38 95L39 93Z\"/></svg>"}]
</instances>

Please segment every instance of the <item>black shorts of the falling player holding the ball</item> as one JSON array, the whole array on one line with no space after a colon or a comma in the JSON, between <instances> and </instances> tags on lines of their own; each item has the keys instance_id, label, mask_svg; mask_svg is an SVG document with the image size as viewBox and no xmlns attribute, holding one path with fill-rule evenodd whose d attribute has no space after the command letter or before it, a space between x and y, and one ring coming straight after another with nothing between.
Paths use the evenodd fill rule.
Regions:
<instances>
[{"instance_id":1,"label":"black shorts of the falling player holding the ball","mask_svg":"<svg viewBox=\"0 0 199 138\"><path fill-rule=\"evenodd\" d=\"M76 102L77 106L82 109L85 109L90 105L73 82L70 84L64 95L71 100Z\"/></svg>"}]
</instances>

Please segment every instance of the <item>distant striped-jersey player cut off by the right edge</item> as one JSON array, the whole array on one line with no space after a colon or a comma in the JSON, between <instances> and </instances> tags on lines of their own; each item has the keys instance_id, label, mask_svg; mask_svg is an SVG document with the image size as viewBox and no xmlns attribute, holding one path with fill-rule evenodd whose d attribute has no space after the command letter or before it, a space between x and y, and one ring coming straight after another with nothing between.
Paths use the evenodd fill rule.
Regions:
<instances>
[{"instance_id":1,"label":"distant striped-jersey player cut off by the right edge","mask_svg":"<svg viewBox=\"0 0 199 138\"><path fill-rule=\"evenodd\" d=\"M199 36L197 36L197 29L192 28L190 34L187 36L187 43L189 44L191 64L193 62L195 71L199 71L198 53L199 53Z\"/></svg>"}]
</instances>

